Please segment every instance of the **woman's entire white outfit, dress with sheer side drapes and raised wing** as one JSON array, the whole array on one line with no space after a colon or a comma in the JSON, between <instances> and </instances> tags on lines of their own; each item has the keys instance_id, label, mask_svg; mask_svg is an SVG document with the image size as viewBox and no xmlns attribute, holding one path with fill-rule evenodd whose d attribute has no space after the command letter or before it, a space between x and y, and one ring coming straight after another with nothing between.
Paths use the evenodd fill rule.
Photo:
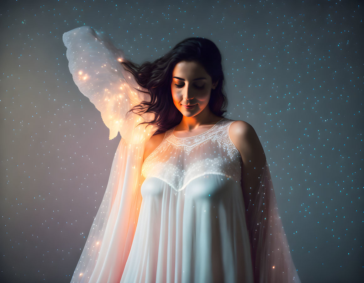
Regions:
<instances>
[{"instance_id":1,"label":"woman's entire white outfit, dress with sheer side drapes and raised wing","mask_svg":"<svg viewBox=\"0 0 364 283\"><path fill-rule=\"evenodd\" d=\"M126 113L150 97L120 64L123 51L90 27L64 33L63 42L109 138L122 136L71 282L299 283L267 163L245 208L228 132L234 120L189 138L170 129L143 163L157 128L138 125L152 113Z\"/></svg>"}]
</instances>

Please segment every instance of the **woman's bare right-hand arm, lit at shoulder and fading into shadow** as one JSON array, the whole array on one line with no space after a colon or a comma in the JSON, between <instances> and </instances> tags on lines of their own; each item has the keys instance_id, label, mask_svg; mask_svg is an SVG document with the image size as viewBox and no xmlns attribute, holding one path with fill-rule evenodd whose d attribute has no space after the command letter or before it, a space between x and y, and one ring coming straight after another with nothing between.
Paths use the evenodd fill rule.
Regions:
<instances>
[{"instance_id":1,"label":"woman's bare right-hand arm, lit at shoulder and fading into shadow","mask_svg":"<svg viewBox=\"0 0 364 283\"><path fill-rule=\"evenodd\" d=\"M234 121L230 124L229 135L242 159L241 187L247 209L250 198L256 193L253 190L258 187L266 158L257 133L249 123Z\"/></svg>"}]
</instances>

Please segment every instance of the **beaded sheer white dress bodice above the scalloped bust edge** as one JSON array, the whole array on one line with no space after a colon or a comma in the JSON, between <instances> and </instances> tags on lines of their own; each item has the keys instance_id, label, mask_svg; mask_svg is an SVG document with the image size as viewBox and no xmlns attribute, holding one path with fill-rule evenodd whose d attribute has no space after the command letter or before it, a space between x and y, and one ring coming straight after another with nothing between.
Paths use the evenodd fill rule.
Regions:
<instances>
[{"instance_id":1,"label":"beaded sheer white dress bodice above the scalloped bust edge","mask_svg":"<svg viewBox=\"0 0 364 283\"><path fill-rule=\"evenodd\" d=\"M223 118L204 133L175 137L174 128L165 132L162 142L145 159L142 175L163 180L175 191L206 174L241 181L241 156L229 136L234 120Z\"/></svg>"}]
</instances>

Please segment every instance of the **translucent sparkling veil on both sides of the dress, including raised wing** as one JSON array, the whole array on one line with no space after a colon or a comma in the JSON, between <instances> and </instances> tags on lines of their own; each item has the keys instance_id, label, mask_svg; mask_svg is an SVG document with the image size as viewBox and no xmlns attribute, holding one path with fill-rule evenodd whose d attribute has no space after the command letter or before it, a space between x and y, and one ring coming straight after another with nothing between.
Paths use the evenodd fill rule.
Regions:
<instances>
[{"instance_id":1,"label":"translucent sparkling veil on both sides of the dress, including raised wing","mask_svg":"<svg viewBox=\"0 0 364 283\"><path fill-rule=\"evenodd\" d=\"M109 139L122 136L110 178L71 282L120 282L138 222L143 182L141 167L145 143L157 130L142 124L154 113L130 110L150 101L120 62L124 53L100 31L87 26L63 34L73 80L101 112L110 129ZM148 125L148 126L147 126ZM251 240L254 283L300 283L276 206L268 164L246 211Z\"/></svg>"}]
</instances>

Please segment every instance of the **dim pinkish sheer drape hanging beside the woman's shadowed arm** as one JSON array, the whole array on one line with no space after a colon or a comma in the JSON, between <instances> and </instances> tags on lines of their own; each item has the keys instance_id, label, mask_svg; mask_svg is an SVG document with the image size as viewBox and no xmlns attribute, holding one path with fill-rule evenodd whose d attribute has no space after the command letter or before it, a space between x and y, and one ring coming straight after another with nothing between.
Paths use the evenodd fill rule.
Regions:
<instances>
[{"instance_id":1,"label":"dim pinkish sheer drape hanging beside the woman's shadowed arm","mask_svg":"<svg viewBox=\"0 0 364 283\"><path fill-rule=\"evenodd\" d=\"M268 163L246 210L255 283L300 283L278 214Z\"/></svg>"}]
</instances>

